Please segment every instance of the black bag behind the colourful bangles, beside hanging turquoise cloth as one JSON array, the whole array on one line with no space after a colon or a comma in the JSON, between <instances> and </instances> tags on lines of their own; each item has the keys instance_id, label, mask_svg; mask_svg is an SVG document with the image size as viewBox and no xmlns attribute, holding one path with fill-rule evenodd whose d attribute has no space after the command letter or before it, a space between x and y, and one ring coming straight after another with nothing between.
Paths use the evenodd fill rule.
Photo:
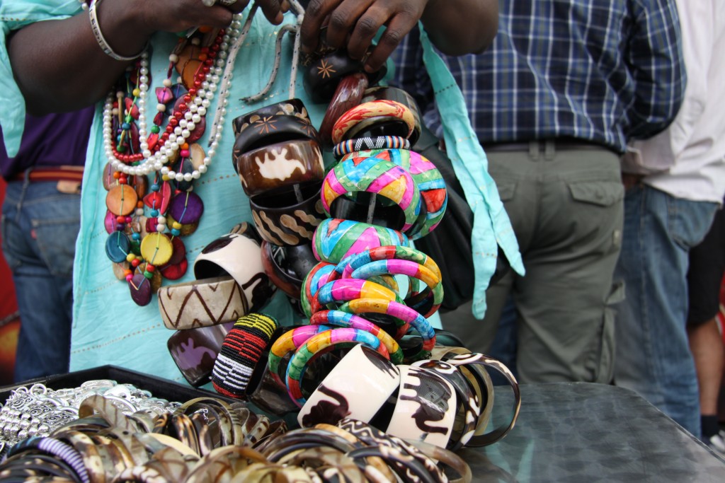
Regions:
<instances>
[{"instance_id":1,"label":"black bag behind the colourful bangles, beside hanging turquoise cloth","mask_svg":"<svg viewBox=\"0 0 725 483\"><path fill-rule=\"evenodd\" d=\"M451 311L473 298L473 251L471 232L473 211L465 201L465 194L445 151L440 149L439 138L423 126L421 137L413 151L425 156L438 168L446 182L448 204L446 214L435 230L415 240L415 248L431 256L441 269L444 298L441 311ZM508 260L499 248L496 272L491 283L499 280L510 269Z\"/></svg>"}]
</instances>

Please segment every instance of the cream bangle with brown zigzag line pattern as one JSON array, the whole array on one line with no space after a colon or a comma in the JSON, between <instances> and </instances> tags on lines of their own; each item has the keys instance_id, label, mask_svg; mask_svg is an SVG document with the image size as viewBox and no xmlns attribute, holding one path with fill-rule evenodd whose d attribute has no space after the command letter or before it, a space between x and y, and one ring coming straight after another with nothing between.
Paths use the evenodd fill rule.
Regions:
<instances>
[{"instance_id":1,"label":"cream bangle with brown zigzag line pattern","mask_svg":"<svg viewBox=\"0 0 725 483\"><path fill-rule=\"evenodd\" d=\"M159 314L167 329L183 330L235 322L247 314L247 297L232 277L161 287Z\"/></svg>"}]
</instances>

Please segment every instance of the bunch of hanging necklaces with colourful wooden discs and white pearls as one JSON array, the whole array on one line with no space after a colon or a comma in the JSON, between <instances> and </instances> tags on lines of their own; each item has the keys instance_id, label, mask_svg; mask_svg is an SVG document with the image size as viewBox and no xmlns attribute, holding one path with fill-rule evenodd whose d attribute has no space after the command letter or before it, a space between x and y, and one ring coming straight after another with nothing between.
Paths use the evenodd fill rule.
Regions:
<instances>
[{"instance_id":1,"label":"bunch of hanging necklaces with colourful wooden discs and white pearls","mask_svg":"<svg viewBox=\"0 0 725 483\"><path fill-rule=\"evenodd\" d=\"M240 35L240 16L227 31L199 29L180 38L169 56L167 77L155 90L156 114L149 128L149 51L125 72L103 109L103 146L108 161L106 253L131 298L148 304L161 277L176 280L186 272L181 236L196 230L203 213L193 182L207 172L221 140L228 90L219 93L218 121L206 153L195 143L218 90L231 43ZM180 65L180 59L186 58ZM191 66L193 75L188 75ZM173 84L173 72L181 77ZM153 95L153 94L152 94ZM162 128L164 119L167 125ZM149 186L147 175L153 176ZM146 194L146 189L150 193ZM149 216L146 216L148 214ZM159 270L157 270L159 268Z\"/></svg>"}]
</instances>

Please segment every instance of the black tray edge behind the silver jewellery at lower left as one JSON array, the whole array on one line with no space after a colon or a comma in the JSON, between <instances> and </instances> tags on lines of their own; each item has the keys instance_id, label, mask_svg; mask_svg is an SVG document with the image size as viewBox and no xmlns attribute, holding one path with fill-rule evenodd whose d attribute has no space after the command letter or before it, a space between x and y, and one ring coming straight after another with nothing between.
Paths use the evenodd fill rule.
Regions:
<instances>
[{"instance_id":1,"label":"black tray edge behind the silver jewellery at lower left","mask_svg":"<svg viewBox=\"0 0 725 483\"><path fill-rule=\"evenodd\" d=\"M0 404L4 404L10 397L12 390L17 389L18 387L30 387L33 384L40 382L53 390L66 388L72 389L73 387L79 387L83 384L83 382L91 381L93 379L111 379L118 384L131 384L138 387L138 389L151 392L154 398L178 401L179 403L185 403L190 399L202 397L218 398L225 400L228 403L238 401L236 399L220 395L218 392L198 389L196 387L186 386L168 379L162 379L161 377L131 371L129 369L124 369L123 367L108 365L94 367L91 369L83 369L82 371L69 372L67 374L54 374L47 377L38 377L36 379L30 379L14 385L2 386L0 387Z\"/></svg>"}]
</instances>

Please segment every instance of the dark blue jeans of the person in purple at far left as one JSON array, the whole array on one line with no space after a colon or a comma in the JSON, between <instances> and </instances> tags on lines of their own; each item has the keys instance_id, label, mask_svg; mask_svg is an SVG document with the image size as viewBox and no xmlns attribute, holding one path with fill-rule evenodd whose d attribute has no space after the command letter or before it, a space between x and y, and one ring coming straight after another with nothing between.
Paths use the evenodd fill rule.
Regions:
<instances>
[{"instance_id":1,"label":"dark blue jeans of the person in purple at far left","mask_svg":"<svg viewBox=\"0 0 725 483\"><path fill-rule=\"evenodd\" d=\"M57 182L8 182L1 229L20 309L16 382L68 371L79 227L80 194L60 193Z\"/></svg>"}]
</instances>

